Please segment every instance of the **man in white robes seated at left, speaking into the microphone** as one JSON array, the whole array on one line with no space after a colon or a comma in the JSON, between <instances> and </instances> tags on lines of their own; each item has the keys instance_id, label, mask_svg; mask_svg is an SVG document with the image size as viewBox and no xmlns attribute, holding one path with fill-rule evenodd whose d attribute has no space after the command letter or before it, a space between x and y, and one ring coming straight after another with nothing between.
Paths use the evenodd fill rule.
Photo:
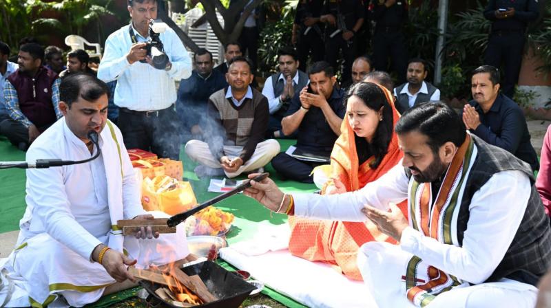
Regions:
<instances>
[{"instance_id":1,"label":"man in white robes seated at left, speaking into the microphone","mask_svg":"<svg viewBox=\"0 0 551 308\"><path fill-rule=\"evenodd\" d=\"M121 131L107 120L109 88L87 74L69 76L60 87L63 118L30 146L26 159L82 160L85 164L28 169L27 209L17 248L0 266L0 306L81 307L134 278L128 265L161 265L187 256L176 234L143 229L123 236L119 219L152 219L143 210ZM158 237L158 239L153 239ZM164 252L164 255L157 251Z\"/></svg>"}]
</instances>

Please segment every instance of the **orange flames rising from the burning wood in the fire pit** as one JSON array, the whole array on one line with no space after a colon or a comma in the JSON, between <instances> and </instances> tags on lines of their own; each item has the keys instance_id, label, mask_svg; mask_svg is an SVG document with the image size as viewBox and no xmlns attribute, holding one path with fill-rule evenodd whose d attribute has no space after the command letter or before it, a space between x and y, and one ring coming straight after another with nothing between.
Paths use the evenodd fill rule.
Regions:
<instances>
[{"instance_id":1,"label":"orange flames rising from the burning wood in the fire pit","mask_svg":"<svg viewBox=\"0 0 551 308\"><path fill-rule=\"evenodd\" d=\"M167 263L167 267L163 267L162 270L156 265L150 265L150 267L153 270L162 272L161 274L163 274L163 278L167 282L169 290L174 294L174 298L183 303L201 305L202 300L191 292L191 290L189 290L185 285L183 285L183 283L180 283L180 281L176 279L176 275L174 273L179 269L175 265L176 254L174 253L174 249L168 245L157 244L157 252L163 255L163 259L165 261L169 261L169 263Z\"/></svg>"}]
</instances>

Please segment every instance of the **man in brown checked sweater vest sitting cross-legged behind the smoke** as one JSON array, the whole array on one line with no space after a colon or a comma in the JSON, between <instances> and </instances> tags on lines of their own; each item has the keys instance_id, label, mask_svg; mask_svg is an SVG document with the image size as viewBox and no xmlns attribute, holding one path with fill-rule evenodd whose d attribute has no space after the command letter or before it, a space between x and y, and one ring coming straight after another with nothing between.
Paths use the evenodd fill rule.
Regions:
<instances>
[{"instance_id":1,"label":"man in brown checked sweater vest sitting cross-legged behind the smoke","mask_svg":"<svg viewBox=\"0 0 551 308\"><path fill-rule=\"evenodd\" d=\"M199 177L236 177L263 168L280 152L280 144L264 140L268 126L268 100L251 88L253 74L249 59L238 56L229 61L229 87L209 98L203 138L190 140L185 153L200 166Z\"/></svg>"}]
</instances>

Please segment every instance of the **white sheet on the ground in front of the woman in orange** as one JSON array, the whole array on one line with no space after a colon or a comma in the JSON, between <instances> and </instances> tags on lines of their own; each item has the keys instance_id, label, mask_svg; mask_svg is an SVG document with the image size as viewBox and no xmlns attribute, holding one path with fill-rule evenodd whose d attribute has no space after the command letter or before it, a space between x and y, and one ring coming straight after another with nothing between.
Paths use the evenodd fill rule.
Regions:
<instances>
[{"instance_id":1,"label":"white sheet on the ground in front of the woman in orange","mask_svg":"<svg viewBox=\"0 0 551 308\"><path fill-rule=\"evenodd\" d=\"M260 223L258 229L253 240L222 248L222 259L309 307L377 307L371 293L361 281L349 280L331 268L331 265L306 261L291 255L287 246L281 245L284 238L289 236L289 232L285 232L289 230L287 225L271 229ZM280 232L273 232L275 230ZM274 236L276 233L280 236ZM278 239L274 241L274 237ZM269 245L271 247L268 249L258 249L260 243L277 244ZM257 248L256 253L251 254L252 250L249 250L247 254L247 247Z\"/></svg>"}]
</instances>

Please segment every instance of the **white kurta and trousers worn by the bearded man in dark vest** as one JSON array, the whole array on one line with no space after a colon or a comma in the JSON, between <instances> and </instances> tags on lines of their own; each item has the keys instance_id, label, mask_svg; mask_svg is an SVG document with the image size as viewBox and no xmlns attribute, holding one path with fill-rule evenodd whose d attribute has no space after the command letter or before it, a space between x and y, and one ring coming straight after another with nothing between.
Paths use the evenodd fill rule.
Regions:
<instances>
[{"instance_id":1,"label":"white kurta and trousers worn by the bearded man in dark vest","mask_svg":"<svg viewBox=\"0 0 551 308\"><path fill-rule=\"evenodd\" d=\"M388 210L389 202L398 203L408 197L408 184L404 167L398 164L386 175L356 192L329 196L293 195L295 215L314 219L365 221L366 217L361 212L364 204ZM493 175L473 195L469 206L470 217L461 247L439 243L411 227L404 230L398 246L384 243L364 244L358 254L358 266L377 304L380 307L410 305L402 276L406 274L406 266L412 255L419 256L429 265L462 281L472 284L486 281L508 250L521 223L529 197L530 181L525 174L518 170L502 171ZM493 206L495 204L509 206ZM535 304L537 289L532 285L503 279L499 283L484 283L480 286L506 289L508 303L514 303L514 307L533 307ZM465 283L463 287L468 290L480 286L468 287ZM430 303L430 307L449 305L438 303L459 292L464 292L461 291L461 286L440 294L437 296L438 300ZM515 297L515 292L524 294L524 297ZM492 292L486 289L486 296L481 296L481 299L485 300L482 303L488 307L497 307L492 304L497 302L492 300L497 300L503 294L497 292L499 296L495 298L492 298L491 294ZM469 296L461 296L465 305L454 299L455 306L446 307L467 307Z\"/></svg>"}]
</instances>

